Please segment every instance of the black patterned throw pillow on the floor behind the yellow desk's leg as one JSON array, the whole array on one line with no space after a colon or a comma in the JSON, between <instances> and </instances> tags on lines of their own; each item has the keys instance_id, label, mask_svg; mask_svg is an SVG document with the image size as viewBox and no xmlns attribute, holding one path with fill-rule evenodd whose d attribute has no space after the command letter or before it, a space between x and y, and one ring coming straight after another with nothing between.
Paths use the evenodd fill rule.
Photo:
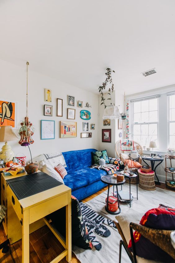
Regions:
<instances>
[{"instance_id":1,"label":"black patterned throw pillow on the floor behind the yellow desk's leg","mask_svg":"<svg viewBox=\"0 0 175 263\"><path fill-rule=\"evenodd\" d=\"M72 244L83 249L92 249L92 243L83 219L81 207L76 197L71 196L72 208ZM66 235L66 210L65 206L47 216L52 220L54 227L65 237Z\"/></svg>"}]
</instances>

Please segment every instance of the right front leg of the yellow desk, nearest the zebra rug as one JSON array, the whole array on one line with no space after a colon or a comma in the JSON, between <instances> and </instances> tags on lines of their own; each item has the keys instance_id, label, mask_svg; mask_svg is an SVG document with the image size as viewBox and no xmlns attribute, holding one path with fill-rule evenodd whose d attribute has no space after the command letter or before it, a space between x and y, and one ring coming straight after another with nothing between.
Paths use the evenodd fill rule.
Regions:
<instances>
[{"instance_id":1,"label":"right front leg of the yellow desk, nearest the zebra rug","mask_svg":"<svg viewBox=\"0 0 175 263\"><path fill-rule=\"evenodd\" d=\"M66 205L66 248L68 254L66 261L70 262L72 259L72 235L71 235L71 191L68 192L68 205Z\"/></svg>"}]
</instances>

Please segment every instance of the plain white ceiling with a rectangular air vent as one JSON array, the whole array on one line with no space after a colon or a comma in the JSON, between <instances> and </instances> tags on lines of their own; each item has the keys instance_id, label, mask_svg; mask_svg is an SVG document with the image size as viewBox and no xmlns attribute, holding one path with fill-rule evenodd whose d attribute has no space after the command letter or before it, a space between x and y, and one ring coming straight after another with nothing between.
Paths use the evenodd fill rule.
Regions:
<instances>
[{"instance_id":1,"label":"plain white ceiling with a rectangular air vent","mask_svg":"<svg viewBox=\"0 0 175 263\"><path fill-rule=\"evenodd\" d=\"M107 67L127 95L172 85L175 1L0 0L0 59L92 92Z\"/></svg>"}]
</instances>

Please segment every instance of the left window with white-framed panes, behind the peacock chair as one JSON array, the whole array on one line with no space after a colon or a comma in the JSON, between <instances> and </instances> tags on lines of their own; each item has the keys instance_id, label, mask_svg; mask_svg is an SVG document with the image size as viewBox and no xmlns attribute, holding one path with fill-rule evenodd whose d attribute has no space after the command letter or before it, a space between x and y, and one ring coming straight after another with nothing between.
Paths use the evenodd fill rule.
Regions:
<instances>
[{"instance_id":1,"label":"left window with white-framed panes, behind the peacock chair","mask_svg":"<svg viewBox=\"0 0 175 263\"><path fill-rule=\"evenodd\" d=\"M155 141L158 148L158 98L159 95L131 101L132 140L142 146L149 147L149 142Z\"/></svg>"}]
</instances>

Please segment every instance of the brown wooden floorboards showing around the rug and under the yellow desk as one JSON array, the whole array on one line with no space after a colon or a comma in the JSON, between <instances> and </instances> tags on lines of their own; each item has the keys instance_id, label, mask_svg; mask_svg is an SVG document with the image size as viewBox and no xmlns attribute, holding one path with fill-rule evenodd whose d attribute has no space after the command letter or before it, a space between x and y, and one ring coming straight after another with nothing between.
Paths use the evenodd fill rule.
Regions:
<instances>
[{"instance_id":1,"label":"brown wooden floorboards showing around the rug and under the yellow desk","mask_svg":"<svg viewBox=\"0 0 175 263\"><path fill-rule=\"evenodd\" d=\"M163 189L167 189L165 184L156 185ZM83 200L87 202L92 198L98 196L102 192L107 190L107 187L98 191L97 193L89 196ZM5 234L0 228L0 244L6 240ZM22 242L21 240L10 246L10 250L7 254L3 254L2 250L0 251L0 262L2 263L21 263L22 262ZM64 248L56 237L52 234L50 229L47 226L44 226L37 231L30 234L30 263L48 263L52 261L58 254L63 251ZM62 259L61 263L66 263L67 261ZM71 263L79 263L76 256L72 255Z\"/></svg>"}]
</instances>

